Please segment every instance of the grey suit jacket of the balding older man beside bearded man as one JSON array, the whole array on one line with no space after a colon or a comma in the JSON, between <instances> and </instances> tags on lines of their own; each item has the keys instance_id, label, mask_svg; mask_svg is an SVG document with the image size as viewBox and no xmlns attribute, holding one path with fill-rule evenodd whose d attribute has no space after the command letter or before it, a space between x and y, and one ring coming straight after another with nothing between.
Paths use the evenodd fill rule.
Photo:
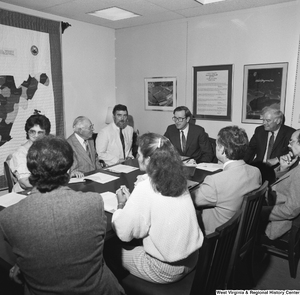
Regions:
<instances>
[{"instance_id":1,"label":"grey suit jacket of the balding older man beside bearded man","mask_svg":"<svg viewBox=\"0 0 300 295\"><path fill-rule=\"evenodd\" d=\"M69 136L67 141L74 151L74 162L70 169L71 171L78 170L85 173L101 168L93 139L88 140L91 158L74 133Z\"/></svg>"}]
</instances>

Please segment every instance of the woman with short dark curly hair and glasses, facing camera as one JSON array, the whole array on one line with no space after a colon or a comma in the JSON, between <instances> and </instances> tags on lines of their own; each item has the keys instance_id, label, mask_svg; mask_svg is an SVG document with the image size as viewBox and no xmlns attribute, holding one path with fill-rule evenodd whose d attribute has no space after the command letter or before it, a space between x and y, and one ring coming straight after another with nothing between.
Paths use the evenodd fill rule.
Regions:
<instances>
[{"instance_id":1,"label":"woman with short dark curly hair and glasses, facing camera","mask_svg":"<svg viewBox=\"0 0 300 295\"><path fill-rule=\"evenodd\" d=\"M14 192L20 192L32 187L28 180L30 172L27 169L26 156L32 143L38 138L49 135L50 129L51 123L49 119L44 115L40 115L38 111L35 111L35 113L27 119L25 124L27 141L12 154L9 160L10 169L18 180L13 187Z\"/></svg>"}]
</instances>

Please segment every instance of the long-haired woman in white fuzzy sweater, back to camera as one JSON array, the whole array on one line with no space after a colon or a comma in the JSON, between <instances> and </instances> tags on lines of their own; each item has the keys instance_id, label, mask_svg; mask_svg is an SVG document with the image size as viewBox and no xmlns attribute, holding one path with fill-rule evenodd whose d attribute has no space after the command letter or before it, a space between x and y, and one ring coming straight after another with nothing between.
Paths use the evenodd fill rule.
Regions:
<instances>
[{"instance_id":1,"label":"long-haired woman in white fuzzy sweater, back to camera","mask_svg":"<svg viewBox=\"0 0 300 295\"><path fill-rule=\"evenodd\" d=\"M147 175L131 195L116 192L112 223L122 241L143 239L143 246L123 248L122 266L150 282L174 282L195 267L203 242L183 165L171 142L154 133L139 138L138 162Z\"/></svg>"}]
</instances>

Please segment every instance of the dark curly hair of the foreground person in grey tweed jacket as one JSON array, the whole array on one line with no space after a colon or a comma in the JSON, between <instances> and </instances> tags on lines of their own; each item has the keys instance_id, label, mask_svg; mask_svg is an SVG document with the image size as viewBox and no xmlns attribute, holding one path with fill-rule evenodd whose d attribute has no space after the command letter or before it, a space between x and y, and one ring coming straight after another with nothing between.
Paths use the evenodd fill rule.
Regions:
<instances>
[{"instance_id":1,"label":"dark curly hair of the foreground person in grey tweed jacket","mask_svg":"<svg viewBox=\"0 0 300 295\"><path fill-rule=\"evenodd\" d=\"M50 192L69 182L73 149L61 137L53 135L36 140L27 154L29 182L41 193Z\"/></svg>"}]
</instances>

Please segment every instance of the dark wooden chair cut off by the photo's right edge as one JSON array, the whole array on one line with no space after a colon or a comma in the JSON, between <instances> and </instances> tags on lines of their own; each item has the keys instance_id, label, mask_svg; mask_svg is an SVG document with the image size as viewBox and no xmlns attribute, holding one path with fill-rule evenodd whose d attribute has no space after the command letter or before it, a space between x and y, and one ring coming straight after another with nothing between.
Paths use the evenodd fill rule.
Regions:
<instances>
[{"instance_id":1,"label":"dark wooden chair cut off by the photo's right edge","mask_svg":"<svg viewBox=\"0 0 300 295\"><path fill-rule=\"evenodd\" d=\"M267 253L288 260L290 276L295 279L300 257L300 214L293 219L292 228L283 236L270 240L262 235L261 246Z\"/></svg>"}]
</instances>

